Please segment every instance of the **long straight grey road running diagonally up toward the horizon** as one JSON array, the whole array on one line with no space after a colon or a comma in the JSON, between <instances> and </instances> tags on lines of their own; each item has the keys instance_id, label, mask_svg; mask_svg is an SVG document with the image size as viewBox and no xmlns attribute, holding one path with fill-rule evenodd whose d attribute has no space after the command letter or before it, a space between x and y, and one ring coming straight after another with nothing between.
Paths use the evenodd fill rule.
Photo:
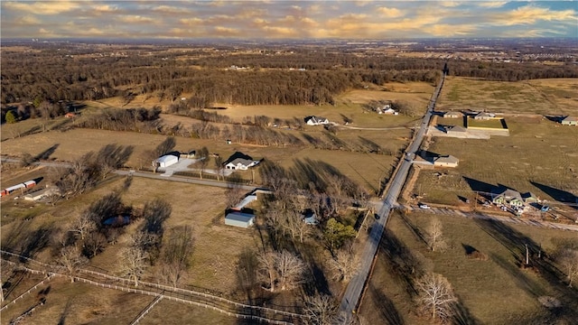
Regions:
<instances>
[{"instance_id":1,"label":"long straight grey road running diagonally up toward the horizon","mask_svg":"<svg viewBox=\"0 0 578 325\"><path fill-rule=\"evenodd\" d=\"M406 156L397 166L397 172L390 182L387 191L384 193L383 206L378 211L378 218L371 228L368 242L361 251L361 263L359 265L358 274L351 278L340 303L340 315L344 318L342 319L343 323L350 323L352 314L357 310L361 294L368 281L368 275L371 270L371 265L373 265L373 259L378 252L379 241L381 240L381 236L386 228L387 218L389 217L391 209L396 206L397 197L399 197L399 193L406 182L407 172L409 172L409 167L412 164L413 157L424 140L425 132L430 123L430 119L432 118L435 101L440 95L444 79L445 74L443 75L440 84L433 92L432 98L427 106L427 112L422 119L422 123L419 129L417 129L413 142L406 150Z\"/></svg>"}]
</instances>

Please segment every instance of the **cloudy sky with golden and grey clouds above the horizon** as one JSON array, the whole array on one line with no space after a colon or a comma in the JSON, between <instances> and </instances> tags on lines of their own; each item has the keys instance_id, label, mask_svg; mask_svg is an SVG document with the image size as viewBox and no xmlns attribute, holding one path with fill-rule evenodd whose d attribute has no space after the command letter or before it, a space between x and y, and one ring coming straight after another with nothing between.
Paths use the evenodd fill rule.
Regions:
<instances>
[{"instance_id":1,"label":"cloudy sky with golden and grey clouds above the horizon","mask_svg":"<svg viewBox=\"0 0 578 325\"><path fill-rule=\"evenodd\" d=\"M578 37L575 1L6 1L2 38Z\"/></svg>"}]
</instances>

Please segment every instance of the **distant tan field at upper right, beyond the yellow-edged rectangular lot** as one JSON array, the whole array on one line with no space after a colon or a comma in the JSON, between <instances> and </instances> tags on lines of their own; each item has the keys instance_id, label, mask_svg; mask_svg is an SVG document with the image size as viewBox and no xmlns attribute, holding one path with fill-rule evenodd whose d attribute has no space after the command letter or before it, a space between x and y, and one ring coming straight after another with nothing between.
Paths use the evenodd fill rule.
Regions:
<instances>
[{"instance_id":1,"label":"distant tan field at upper right, beyond the yellow-edged rectangular lot","mask_svg":"<svg viewBox=\"0 0 578 325\"><path fill-rule=\"evenodd\" d=\"M575 115L578 79L518 82L448 77L437 110L482 110L499 113Z\"/></svg>"}]
</instances>

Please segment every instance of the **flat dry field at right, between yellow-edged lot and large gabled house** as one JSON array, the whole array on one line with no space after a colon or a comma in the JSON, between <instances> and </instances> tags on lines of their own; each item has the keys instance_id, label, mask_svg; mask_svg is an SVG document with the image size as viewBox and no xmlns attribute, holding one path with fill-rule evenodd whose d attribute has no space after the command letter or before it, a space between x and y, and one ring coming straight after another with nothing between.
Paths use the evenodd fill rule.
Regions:
<instances>
[{"instance_id":1,"label":"flat dry field at right, between yellow-edged lot and large gabled house","mask_svg":"<svg viewBox=\"0 0 578 325\"><path fill-rule=\"evenodd\" d=\"M416 183L424 200L456 204L458 195L499 184L545 200L572 200L570 193L578 194L578 129L539 118L509 118L508 127L510 136L488 140L434 138L428 150L452 154L460 164L442 178L421 172Z\"/></svg>"}]
</instances>

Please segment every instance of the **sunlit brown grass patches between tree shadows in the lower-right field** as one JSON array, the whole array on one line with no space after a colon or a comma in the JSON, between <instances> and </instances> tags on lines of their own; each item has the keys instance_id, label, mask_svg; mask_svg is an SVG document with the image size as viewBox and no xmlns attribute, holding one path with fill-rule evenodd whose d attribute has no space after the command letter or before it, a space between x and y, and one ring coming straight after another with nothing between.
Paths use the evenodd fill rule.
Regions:
<instances>
[{"instance_id":1,"label":"sunlit brown grass patches between tree shadows in the lower-right field","mask_svg":"<svg viewBox=\"0 0 578 325\"><path fill-rule=\"evenodd\" d=\"M432 217L412 214L406 218L413 227L424 231ZM530 287L536 285L539 292L557 296L560 294L558 290L564 290L564 283L556 283L554 287L544 276L520 270L512 252L485 232L477 220L447 216L437 218L443 223L443 232L449 244L443 253L428 250L424 242L416 237L397 215L390 218L384 236L396 237L400 245L410 249L427 269L443 274L452 283L460 302L476 322L509 324L522 320L531 322L542 317L555 319L555 316L548 315L541 307ZM575 234L570 232L512 225L507 227L540 243L545 251L552 249L556 240L576 240ZM489 260L468 258L462 244L485 252L489 255ZM521 250L522 248L515 248L517 257ZM392 269L393 262L384 254L383 248L377 258L360 314L374 324L396 323L392 321L396 319L401 320L398 323L406 324L432 323L432 320L423 318L416 312L417 307L409 293L411 291L406 290L403 276L397 275L396 270ZM568 308L578 307L577 302L571 303L573 305L567 305Z\"/></svg>"}]
</instances>

